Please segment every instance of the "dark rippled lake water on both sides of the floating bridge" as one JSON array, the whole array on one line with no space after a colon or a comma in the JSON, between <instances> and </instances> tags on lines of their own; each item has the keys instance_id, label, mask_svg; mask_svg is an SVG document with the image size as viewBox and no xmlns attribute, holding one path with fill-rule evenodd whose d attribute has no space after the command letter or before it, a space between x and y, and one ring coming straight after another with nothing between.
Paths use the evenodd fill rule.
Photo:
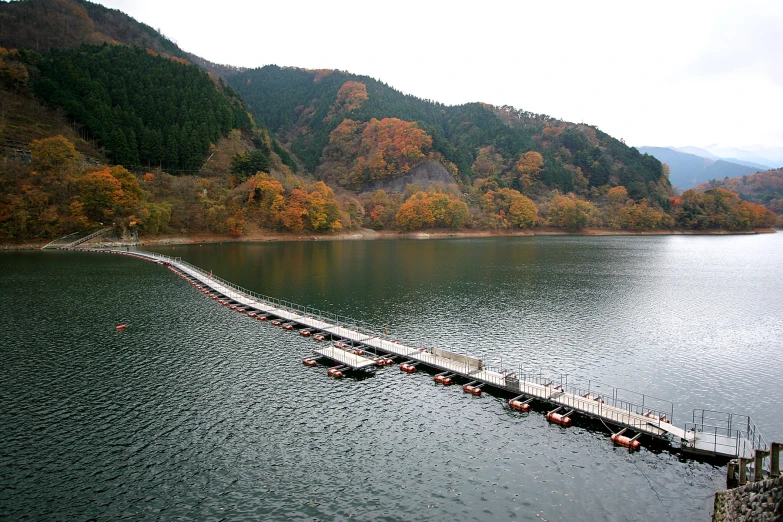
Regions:
<instances>
[{"instance_id":1,"label":"dark rippled lake water on both sides of the floating bridge","mask_svg":"<svg viewBox=\"0 0 783 522\"><path fill-rule=\"evenodd\" d=\"M783 234L159 247L404 342L753 417L783 438ZM725 467L613 447L312 340L168 270L0 254L0 518L709 520ZM118 324L128 324L117 332Z\"/></svg>"}]
</instances>

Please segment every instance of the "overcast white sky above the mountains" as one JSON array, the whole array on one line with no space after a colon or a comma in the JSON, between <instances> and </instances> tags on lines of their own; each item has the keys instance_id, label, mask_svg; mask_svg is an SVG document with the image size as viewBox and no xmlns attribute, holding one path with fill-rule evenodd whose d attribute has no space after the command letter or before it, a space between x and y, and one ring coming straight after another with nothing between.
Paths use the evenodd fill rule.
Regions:
<instances>
[{"instance_id":1,"label":"overcast white sky above the mountains","mask_svg":"<svg viewBox=\"0 0 783 522\"><path fill-rule=\"evenodd\" d=\"M342 69L629 145L783 147L783 1L98 0L218 63Z\"/></svg>"}]
</instances>

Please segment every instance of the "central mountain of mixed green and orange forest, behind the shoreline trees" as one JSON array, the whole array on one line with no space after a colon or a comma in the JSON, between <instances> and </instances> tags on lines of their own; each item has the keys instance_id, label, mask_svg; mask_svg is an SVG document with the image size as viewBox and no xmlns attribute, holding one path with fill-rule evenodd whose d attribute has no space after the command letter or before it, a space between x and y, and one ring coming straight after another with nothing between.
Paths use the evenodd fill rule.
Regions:
<instances>
[{"instance_id":1,"label":"central mountain of mixed green and orange forest, behind the shoreline trees","mask_svg":"<svg viewBox=\"0 0 783 522\"><path fill-rule=\"evenodd\" d=\"M386 172L387 176L434 158L462 183L483 179L522 192L535 190L532 185L539 183L539 189L585 193L601 187L605 193L612 186L624 185L634 199L649 198L667 205L668 181L661 163L587 125L511 107L445 106L341 71L266 66L231 75L229 82L256 119L278 133L309 171L354 190L378 178L373 158L367 154L375 157L386 152L364 143L364 135L380 128L373 120L394 119L415 124L427 137L420 144L405 142L403 148L413 147L421 155L408 158L404 165L392 157L392 166L402 168ZM406 129L401 125L399 131ZM393 140L399 133L391 129L387 134ZM335 143L341 139L351 143ZM543 160L534 168L533 178L525 177L520 172L524 167L517 165L530 152ZM388 158L376 159L383 159L388 167ZM347 172L334 176L335 170Z\"/></svg>"}]
</instances>

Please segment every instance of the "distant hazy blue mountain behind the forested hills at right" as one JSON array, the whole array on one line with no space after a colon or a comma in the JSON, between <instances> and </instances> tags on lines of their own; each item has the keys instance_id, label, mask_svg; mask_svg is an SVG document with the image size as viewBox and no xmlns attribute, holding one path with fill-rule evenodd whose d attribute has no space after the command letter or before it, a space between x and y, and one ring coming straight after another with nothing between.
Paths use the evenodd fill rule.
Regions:
<instances>
[{"instance_id":1,"label":"distant hazy blue mountain behind the forested hills at right","mask_svg":"<svg viewBox=\"0 0 783 522\"><path fill-rule=\"evenodd\" d=\"M755 167L728 160L713 160L668 147L639 147L639 151L655 156L666 163L671 171L669 180L672 185L682 189L693 188L711 179L733 178L759 171Z\"/></svg>"}]
</instances>

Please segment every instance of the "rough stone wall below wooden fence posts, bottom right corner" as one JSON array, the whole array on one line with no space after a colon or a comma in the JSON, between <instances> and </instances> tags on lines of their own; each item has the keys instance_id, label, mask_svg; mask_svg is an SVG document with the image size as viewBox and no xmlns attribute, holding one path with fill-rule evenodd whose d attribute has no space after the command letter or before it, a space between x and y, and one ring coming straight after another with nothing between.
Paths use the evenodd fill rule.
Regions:
<instances>
[{"instance_id":1,"label":"rough stone wall below wooden fence posts, bottom right corner","mask_svg":"<svg viewBox=\"0 0 783 522\"><path fill-rule=\"evenodd\" d=\"M715 493L713 522L783 522L783 477Z\"/></svg>"}]
</instances>

